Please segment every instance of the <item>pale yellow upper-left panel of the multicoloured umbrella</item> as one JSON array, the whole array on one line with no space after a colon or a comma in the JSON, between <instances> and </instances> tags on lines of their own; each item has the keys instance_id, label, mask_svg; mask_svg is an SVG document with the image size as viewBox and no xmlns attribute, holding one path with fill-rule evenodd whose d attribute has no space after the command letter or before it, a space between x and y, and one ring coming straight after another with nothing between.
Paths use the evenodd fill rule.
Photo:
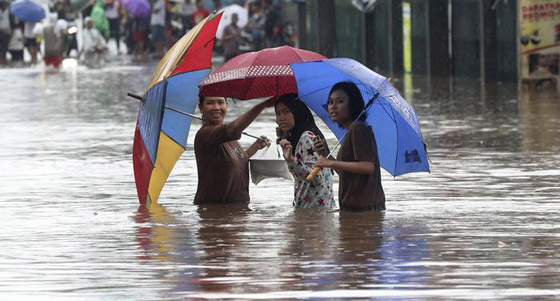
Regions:
<instances>
[{"instance_id":1,"label":"pale yellow upper-left panel of the multicoloured umbrella","mask_svg":"<svg viewBox=\"0 0 560 301\"><path fill-rule=\"evenodd\" d=\"M166 79L175 70L175 68L177 68L177 65L181 63L181 59L185 55L186 50L191 46L204 24L208 22L209 17L206 17L206 19L198 23L193 29L189 30L187 34L185 34L175 43L175 45L173 45L173 47L171 47L171 49L169 49L169 51L167 51L161 61L159 61L146 91L150 90L150 88L155 84Z\"/></svg>"}]
</instances>

